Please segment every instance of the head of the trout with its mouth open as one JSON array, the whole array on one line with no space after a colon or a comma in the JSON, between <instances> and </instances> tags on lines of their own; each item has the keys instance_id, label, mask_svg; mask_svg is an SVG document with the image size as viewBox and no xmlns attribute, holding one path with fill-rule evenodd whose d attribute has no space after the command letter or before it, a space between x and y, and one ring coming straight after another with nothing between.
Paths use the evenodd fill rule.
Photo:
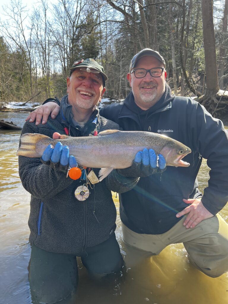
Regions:
<instances>
[{"instance_id":1,"label":"head of the trout with its mouth open","mask_svg":"<svg viewBox=\"0 0 228 304\"><path fill-rule=\"evenodd\" d=\"M175 140L165 145L159 153L164 156L167 166L188 167L190 164L182 161L182 158L191 152L189 147Z\"/></svg>"}]
</instances>

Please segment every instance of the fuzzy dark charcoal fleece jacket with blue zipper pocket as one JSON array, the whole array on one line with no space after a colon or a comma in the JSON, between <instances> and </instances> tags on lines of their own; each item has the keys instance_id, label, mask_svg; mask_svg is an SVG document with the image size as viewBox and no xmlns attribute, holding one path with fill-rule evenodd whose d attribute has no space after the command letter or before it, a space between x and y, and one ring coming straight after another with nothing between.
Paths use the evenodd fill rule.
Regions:
<instances>
[{"instance_id":1,"label":"fuzzy dark charcoal fleece jacket with blue zipper pocket","mask_svg":"<svg viewBox=\"0 0 228 304\"><path fill-rule=\"evenodd\" d=\"M98 133L119 129L116 123L99 116L98 109L96 111ZM92 136L95 126L95 123L89 123L84 135ZM54 132L65 134L64 127L58 115L56 119L49 117L45 125L26 122L22 134L40 133L52 138ZM74 133L72 126L71 130ZM97 176L98 171L94 168ZM50 252L78 256L87 247L107 240L116 229L116 207L110 190L128 191L138 181L138 178L124 178L113 170L107 178L95 184L94 189L89 188L88 199L79 201L74 192L83 183L66 178L66 174L58 169L42 164L40 158L19 156L19 175L22 185L31 194L30 243Z\"/></svg>"}]
</instances>

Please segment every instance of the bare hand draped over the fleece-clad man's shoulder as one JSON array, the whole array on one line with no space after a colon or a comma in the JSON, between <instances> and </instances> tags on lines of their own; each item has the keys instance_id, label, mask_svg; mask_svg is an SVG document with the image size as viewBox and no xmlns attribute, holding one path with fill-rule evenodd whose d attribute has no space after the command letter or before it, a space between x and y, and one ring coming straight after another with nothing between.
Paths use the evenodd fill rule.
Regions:
<instances>
[{"instance_id":1,"label":"bare hand draped over the fleece-clad man's shoulder","mask_svg":"<svg viewBox=\"0 0 228 304\"><path fill-rule=\"evenodd\" d=\"M40 105L39 108L35 109L33 112L29 114L26 118L26 121L29 120L29 123L33 123L36 119L36 126L41 123L44 125L47 123L48 116L51 113L51 118L55 119L60 111L60 106L57 105L55 102L47 102L45 105Z\"/></svg>"}]
</instances>

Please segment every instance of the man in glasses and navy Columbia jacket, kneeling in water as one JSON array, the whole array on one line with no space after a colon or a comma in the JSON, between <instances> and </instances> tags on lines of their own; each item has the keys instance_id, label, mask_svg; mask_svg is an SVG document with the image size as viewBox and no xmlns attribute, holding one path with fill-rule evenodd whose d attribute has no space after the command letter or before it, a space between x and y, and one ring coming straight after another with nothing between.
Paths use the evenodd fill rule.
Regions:
<instances>
[{"instance_id":1,"label":"man in glasses and navy Columbia jacket, kneeling in water","mask_svg":"<svg viewBox=\"0 0 228 304\"><path fill-rule=\"evenodd\" d=\"M131 60L132 91L123 104L100 110L123 130L160 133L192 150L184 158L189 167L168 166L162 174L142 176L136 188L119 195L123 241L153 254L183 242L192 264L218 277L228 270L228 225L218 214L228 201L227 132L198 102L172 95L166 77L164 58L143 49ZM56 110L52 104L47 112ZM202 158L211 168L203 194L197 181ZM127 169L121 174L133 176Z\"/></svg>"}]
</instances>

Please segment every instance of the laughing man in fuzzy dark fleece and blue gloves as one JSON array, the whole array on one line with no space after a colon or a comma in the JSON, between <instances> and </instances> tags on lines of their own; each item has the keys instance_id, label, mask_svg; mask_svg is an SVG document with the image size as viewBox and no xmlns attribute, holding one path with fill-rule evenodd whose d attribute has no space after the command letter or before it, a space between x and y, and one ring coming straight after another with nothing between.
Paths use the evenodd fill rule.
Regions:
<instances>
[{"instance_id":1,"label":"laughing man in fuzzy dark fleece and blue gloves","mask_svg":"<svg viewBox=\"0 0 228 304\"><path fill-rule=\"evenodd\" d=\"M79 60L69 76L68 95L62 98L56 119L38 126L27 122L22 134L63 139L119 130L116 123L100 116L97 108L107 80L103 67L90 58ZM60 142L54 148L49 145L41 159L19 156L19 175L31 194L28 269L33 303L73 301L78 286L76 257L81 257L97 281L112 278L114 282L120 273L123 258L115 237L116 207L110 190L127 191L138 178L124 178L115 170L98 182L98 171L77 168L69 147Z\"/></svg>"}]
</instances>

